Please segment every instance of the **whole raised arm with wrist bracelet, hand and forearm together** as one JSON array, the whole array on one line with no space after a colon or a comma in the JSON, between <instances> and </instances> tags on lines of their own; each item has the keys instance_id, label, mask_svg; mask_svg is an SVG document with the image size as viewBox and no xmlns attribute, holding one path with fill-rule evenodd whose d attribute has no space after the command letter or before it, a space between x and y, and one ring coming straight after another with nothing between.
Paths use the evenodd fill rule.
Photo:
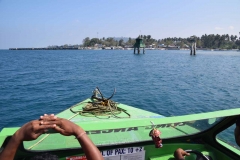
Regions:
<instances>
[{"instance_id":1,"label":"whole raised arm with wrist bracelet, hand and forearm together","mask_svg":"<svg viewBox=\"0 0 240 160\"><path fill-rule=\"evenodd\" d=\"M69 120L63 118L56 118L54 115L44 115L40 118L44 121L53 120L55 118L54 123L56 124L56 126L54 129L62 135L75 136L80 143L88 160L103 160L102 154L100 153L98 148L93 144L91 139L87 136L86 132L80 126Z\"/></svg>"}]
</instances>

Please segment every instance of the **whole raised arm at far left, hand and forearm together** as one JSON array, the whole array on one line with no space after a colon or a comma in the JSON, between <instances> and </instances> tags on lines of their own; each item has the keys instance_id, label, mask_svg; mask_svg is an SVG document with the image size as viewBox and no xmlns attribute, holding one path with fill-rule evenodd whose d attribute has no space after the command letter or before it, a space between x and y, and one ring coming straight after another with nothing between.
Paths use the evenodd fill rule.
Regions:
<instances>
[{"instance_id":1,"label":"whole raised arm at far left, hand and forearm together","mask_svg":"<svg viewBox=\"0 0 240 160\"><path fill-rule=\"evenodd\" d=\"M46 125L43 125L43 122L39 120L34 120L23 125L19 130L14 133L14 135L9 140L7 146L0 153L0 160L14 159L18 146L23 141L37 139L48 128L54 127L51 122L46 122L45 124Z\"/></svg>"}]
</instances>

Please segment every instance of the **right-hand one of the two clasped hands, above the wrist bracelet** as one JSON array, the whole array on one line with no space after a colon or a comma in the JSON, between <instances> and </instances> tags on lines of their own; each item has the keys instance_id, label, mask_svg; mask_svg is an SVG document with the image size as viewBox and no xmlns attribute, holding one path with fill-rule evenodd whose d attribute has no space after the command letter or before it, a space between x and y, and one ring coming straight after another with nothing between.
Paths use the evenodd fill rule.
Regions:
<instances>
[{"instance_id":1,"label":"right-hand one of the two clasped hands, above the wrist bracelet","mask_svg":"<svg viewBox=\"0 0 240 160\"><path fill-rule=\"evenodd\" d=\"M54 116L54 114L44 114L44 116L40 116L40 119L43 120L43 122L53 121L54 124L56 124L53 129L65 136L79 136L85 133L85 131L80 126L67 119L58 118Z\"/></svg>"}]
</instances>

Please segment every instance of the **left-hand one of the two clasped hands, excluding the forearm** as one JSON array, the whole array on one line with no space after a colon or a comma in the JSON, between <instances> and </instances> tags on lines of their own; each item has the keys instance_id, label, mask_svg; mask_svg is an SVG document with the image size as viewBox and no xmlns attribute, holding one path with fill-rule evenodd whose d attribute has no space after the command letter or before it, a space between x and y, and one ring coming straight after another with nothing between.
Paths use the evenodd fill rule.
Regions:
<instances>
[{"instance_id":1,"label":"left-hand one of the two clasped hands, excluding the forearm","mask_svg":"<svg viewBox=\"0 0 240 160\"><path fill-rule=\"evenodd\" d=\"M14 136L19 141L31 141L37 139L41 134L45 133L47 129L54 128L53 121L42 122L40 120L33 120L24 124Z\"/></svg>"}]
</instances>

